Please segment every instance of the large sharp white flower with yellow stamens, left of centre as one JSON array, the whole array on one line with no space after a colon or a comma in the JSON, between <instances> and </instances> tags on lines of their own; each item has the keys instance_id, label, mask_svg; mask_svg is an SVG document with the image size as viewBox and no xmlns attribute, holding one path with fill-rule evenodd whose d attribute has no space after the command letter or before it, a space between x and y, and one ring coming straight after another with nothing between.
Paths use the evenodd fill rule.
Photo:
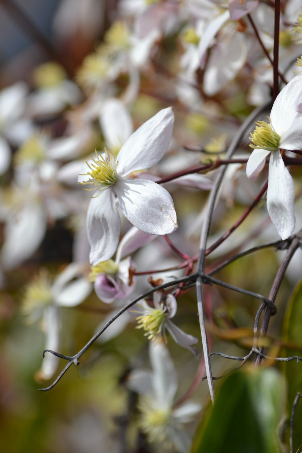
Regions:
<instances>
[{"instance_id":1,"label":"large sharp white flower with yellow stamens, left of centre","mask_svg":"<svg viewBox=\"0 0 302 453\"><path fill-rule=\"evenodd\" d=\"M139 230L163 235L177 229L170 194L153 181L128 176L136 170L152 167L161 159L170 143L173 123L172 108L163 109L130 135L116 160L105 151L96 153L96 158L82 167L78 182L96 188L87 212L92 265L109 260L119 242L120 215L115 195L125 217Z\"/></svg>"}]
</instances>

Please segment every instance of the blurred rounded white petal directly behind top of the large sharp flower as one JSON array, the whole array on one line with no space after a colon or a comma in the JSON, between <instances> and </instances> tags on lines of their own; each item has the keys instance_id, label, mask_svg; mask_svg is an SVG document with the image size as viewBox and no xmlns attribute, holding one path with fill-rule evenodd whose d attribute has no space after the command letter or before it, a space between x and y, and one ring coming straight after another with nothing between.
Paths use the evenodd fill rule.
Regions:
<instances>
[{"instance_id":1,"label":"blurred rounded white petal directly behind top of the large sharp flower","mask_svg":"<svg viewBox=\"0 0 302 453\"><path fill-rule=\"evenodd\" d=\"M104 102L100 125L109 149L120 149L133 132L129 111L123 102L116 98Z\"/></svg>"}]
</instances>

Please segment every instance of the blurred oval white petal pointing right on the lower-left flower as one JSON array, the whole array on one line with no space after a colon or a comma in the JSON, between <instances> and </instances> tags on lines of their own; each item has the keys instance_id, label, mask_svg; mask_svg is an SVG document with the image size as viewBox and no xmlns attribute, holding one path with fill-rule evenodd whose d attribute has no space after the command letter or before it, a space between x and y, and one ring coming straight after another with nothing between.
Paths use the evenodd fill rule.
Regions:
<instances>
[{"instance_id":1,"label":"blurred oval white petal pointing right on the lower-left flower","mask_svg":"<svg viewBox=\"0 0 302 453\"><path fill-rule=\"evenodd\" d=\"M75 307L81 304L91 293L92 285L85 278L80 278L68 284L56 297L56 304L62 307Z\"/></svg>"}]
</instances>

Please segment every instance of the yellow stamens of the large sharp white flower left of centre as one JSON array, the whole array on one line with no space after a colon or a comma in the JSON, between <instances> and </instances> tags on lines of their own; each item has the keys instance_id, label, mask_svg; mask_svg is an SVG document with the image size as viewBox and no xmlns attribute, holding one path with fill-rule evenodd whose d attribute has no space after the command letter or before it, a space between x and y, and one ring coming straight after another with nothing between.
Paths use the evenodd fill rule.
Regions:
<instances>
[{"instance_id":1,"label":"yellow stamens of the large sharp white flower left of centre","mask_svg":"<svg viewBox=\"0 0 302 453\"><path fill-rule=\"evenodd\" d=\"M98 155L96 151L96 158L94 159L91 156L91 159L91 164L86 162L91 171L81 173L81 176L87 175L88 178L80 184L93 184L98 187L98 190L102 190L108 186L113 186L113 184L117 181L116 166L118 164L118 162L115 163L114 155L110 151L105 151L105 155Z\"/></svg>"}]
</instances>

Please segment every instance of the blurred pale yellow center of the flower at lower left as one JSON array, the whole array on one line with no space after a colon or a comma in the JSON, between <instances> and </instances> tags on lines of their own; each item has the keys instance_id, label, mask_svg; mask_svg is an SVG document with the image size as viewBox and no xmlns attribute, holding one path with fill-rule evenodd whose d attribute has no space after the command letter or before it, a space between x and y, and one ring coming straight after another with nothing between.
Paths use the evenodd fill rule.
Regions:
<instances>
[{"instance_id":1,"label":"blurred pale yellow center of the flower at lower left","mask_svg":"<svg viewBox=\"0 0 302 453\"><path fill-rule=\"evenodd\" d=\"M28 317L29 323L40 318L45 306L53 302L51 286L50 276L45 269L26 286L21 310Z\"/></svg>"}]
</instances>

